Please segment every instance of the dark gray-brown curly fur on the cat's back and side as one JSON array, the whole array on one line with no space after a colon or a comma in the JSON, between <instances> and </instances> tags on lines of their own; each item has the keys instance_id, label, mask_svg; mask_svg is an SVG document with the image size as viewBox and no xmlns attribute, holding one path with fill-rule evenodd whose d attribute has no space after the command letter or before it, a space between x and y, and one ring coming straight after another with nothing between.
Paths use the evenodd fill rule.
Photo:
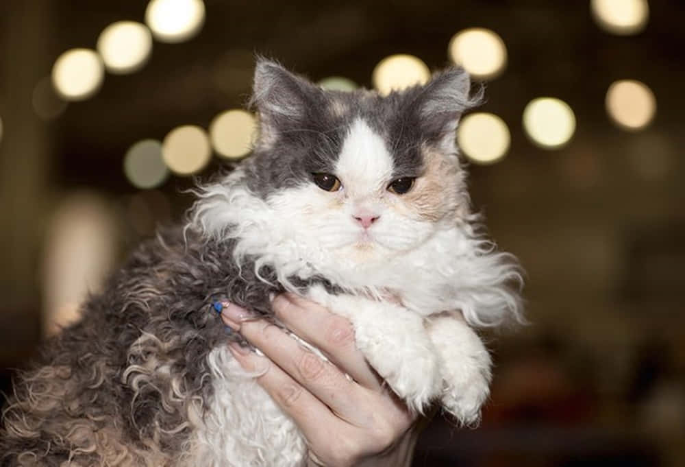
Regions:
<instances>
[{"instance_id":1,"label":"dark gray-brown curly fur on the cat's back and side","mask_svg":"<svg viewBox=\"0 0 685 467\"><path fill-rule=\"evenodd\" d=\"M187 241L183 237L173 228L140 246L105 292L88 300L82 320L45 343L3 411L1 466L15 465L16 455L25 452L35 453L40 465L60 466L73 459L75 448L85 449L76 457L79 464L99 464L99 453L86 452L90 440L78 446L70 435L75 427L92 433L116 427L112 443L141 452L145 439L155 440L170 457L182 446L188 436L185 405L210 396L206 357L231 338L211 311L212 299L228 298L267 314L269 294L280 290L258 280L251 267L238 274L232 242L210 243L192 231ZM271 272L261 275L269 278ZM141 333L151 333L158 344L129 356ZM123 372L144 365L149 352L179 376L184 398L169 396L168 379L153 373L134 398ZM145 459L130 460L145 465Z\"/></svg>"}]
</instances>

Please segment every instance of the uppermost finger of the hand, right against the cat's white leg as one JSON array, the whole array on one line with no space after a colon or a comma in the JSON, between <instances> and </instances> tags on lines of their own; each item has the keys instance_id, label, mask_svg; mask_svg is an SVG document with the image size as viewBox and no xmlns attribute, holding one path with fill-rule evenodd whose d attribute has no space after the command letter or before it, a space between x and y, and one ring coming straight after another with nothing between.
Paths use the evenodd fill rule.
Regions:
<instances>
[{"instance_id":1,"label":"uppermost finger of the hand, right against the cat's white leg","mask_svg":"<svg viewBox=\"0 0 685 467\"><path fill-rule=\"evenodd\" d=\"M292 294L277 296L271 306L288 329L321 350L360 385L382 391L382 380L355 346L354 329L349 321Z\"/></svg>"}]
</instances>

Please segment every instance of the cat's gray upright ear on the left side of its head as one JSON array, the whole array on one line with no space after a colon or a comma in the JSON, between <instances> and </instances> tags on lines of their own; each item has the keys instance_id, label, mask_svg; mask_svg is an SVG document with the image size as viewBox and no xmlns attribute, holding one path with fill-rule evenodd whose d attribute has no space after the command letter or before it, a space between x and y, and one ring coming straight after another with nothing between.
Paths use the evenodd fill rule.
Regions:
<instances>
[{"instance_id":1,"label":"cat's gray upright ear on the left side of its head","mask_svg":"<svg viewBox=\"0 0 685 467\"><path fill-rule=\"evenodd\" d=\"M258 58L251 105L260 114L260 134L271 137L307 115L321 88L266 58Z\"/></svg>"}]
</instances>

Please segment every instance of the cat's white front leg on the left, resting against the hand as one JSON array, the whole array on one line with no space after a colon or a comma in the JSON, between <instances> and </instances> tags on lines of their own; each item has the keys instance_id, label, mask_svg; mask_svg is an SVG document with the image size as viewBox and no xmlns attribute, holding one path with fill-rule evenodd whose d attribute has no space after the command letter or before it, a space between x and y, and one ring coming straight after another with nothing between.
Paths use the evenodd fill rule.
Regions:
<instances>
[{"instance_id":1,"label":"cat's white front leg on the left, resting against the hand","mask_svg":"<svg viewBox=\"0 0 685 467\"><path fill-rule=\"evenodd\" d=\"M423 318L398 304L328 294L312 287L308 298L349 319L357 348L410 409L423 413L442 390L438 355Z\"/></svg>"}]
</instances>

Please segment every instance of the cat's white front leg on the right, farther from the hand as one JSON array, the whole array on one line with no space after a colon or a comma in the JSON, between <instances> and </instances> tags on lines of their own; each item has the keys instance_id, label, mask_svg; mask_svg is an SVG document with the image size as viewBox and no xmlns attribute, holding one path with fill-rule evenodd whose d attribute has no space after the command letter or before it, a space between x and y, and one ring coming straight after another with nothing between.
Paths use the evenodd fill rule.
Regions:
<instances>
[{"instance_id":1,"label":"cat's white front leg on the right, farther from the hand","mask_svg":"<svg viewBox=\"0 0 685 467\"><path fill-rule=\"evenodd\" d=\"M490 394L490 353L458 312L428 319L443 374L443 407L462 424L474 424Z\"/></svg>"}]
</instances>

